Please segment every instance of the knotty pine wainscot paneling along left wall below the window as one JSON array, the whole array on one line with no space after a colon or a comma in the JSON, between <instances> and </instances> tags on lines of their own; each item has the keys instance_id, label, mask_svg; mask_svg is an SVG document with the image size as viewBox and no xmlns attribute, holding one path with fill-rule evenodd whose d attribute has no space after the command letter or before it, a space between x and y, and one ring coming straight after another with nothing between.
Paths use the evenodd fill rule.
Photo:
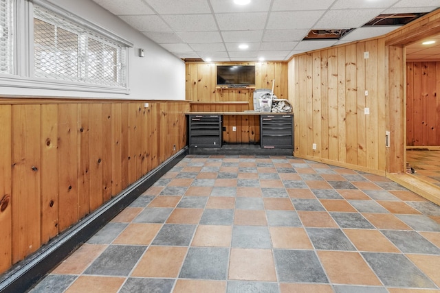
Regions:
<instances>
[{"instance_id":1,"label":"knotty pine wainscot paneling along left wall below the window","mask_svg":"<svg viewBox=\"0 0 440 293\"><path fill-rule=\"evenodd\" d=\"M186 143L188 102L0 98L0 273Z\"/></svg>"}]
</instances>

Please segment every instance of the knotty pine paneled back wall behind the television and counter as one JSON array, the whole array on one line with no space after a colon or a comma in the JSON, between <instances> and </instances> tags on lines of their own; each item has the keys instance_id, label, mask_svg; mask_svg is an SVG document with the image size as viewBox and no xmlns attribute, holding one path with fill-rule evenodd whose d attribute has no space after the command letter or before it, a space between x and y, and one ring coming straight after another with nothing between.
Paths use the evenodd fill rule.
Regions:
<instances>
[{"instance_id":1,"label":"knotty pine paneled back wall behind the television and counter","mask_svg":"<svg viewBox=\"0 0 440 293\"><path fill-rule=\"evenodd\" d=\"M186 99L191 111L241 112L254 109L254 89L220 89L217 87L217 65L232 63L186 63ZM255 65L255 89L271 89L280 99L287 99L287 62L241 62L234 65ZM233 127L236 131L232 131ZM248 115L223 116L225 143L259 143L259 117Z\"/></svg>"}]
</instances>

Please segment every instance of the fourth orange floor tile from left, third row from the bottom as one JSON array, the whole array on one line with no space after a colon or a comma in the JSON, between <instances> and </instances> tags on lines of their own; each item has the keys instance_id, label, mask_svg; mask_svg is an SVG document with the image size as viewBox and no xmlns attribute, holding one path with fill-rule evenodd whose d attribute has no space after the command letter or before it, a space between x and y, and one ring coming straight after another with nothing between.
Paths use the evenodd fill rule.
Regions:
<instances>
[{"instance_id":1,"label":"fourth orange floor tile from left, third row from the bottom","mask_svg":"<svg viewBox=\"0 0 440 293\"><path fill-rule=\"evenodd\" d=\"M373 253L399 253L397 247L391 243L380 231L368 229L344 229L345 235L359 251Z\"/></svg>"}]
</instances>

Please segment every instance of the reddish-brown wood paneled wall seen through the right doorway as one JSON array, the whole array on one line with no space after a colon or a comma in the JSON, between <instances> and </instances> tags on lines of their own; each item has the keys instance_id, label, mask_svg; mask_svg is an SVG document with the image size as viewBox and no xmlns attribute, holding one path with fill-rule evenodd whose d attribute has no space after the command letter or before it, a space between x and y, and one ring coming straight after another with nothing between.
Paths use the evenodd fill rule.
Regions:
<instances>
[{"instance_id":1,"label":"reddish-brown wood paneled wall seen through the right doorway","mask_svg":"<svg viewBox=\"0 0 440 293\"><path fill-rule=\"evenodd\" d=\"M406 62L406 145L440 145L440 62Z\"/></svg>"}]
</instances>

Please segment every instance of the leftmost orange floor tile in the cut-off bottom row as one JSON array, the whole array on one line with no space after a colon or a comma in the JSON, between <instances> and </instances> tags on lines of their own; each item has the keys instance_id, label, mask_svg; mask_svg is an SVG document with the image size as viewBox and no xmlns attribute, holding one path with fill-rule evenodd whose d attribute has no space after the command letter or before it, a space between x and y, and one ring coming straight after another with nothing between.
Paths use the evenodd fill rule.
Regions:
<instances>
[{"instance_id":1,"label":"leftmost orange floor tile in the cut-off bottom row","mask_svg":"<svg viewBox=\"0 0 440 293\"><path fill-rule=\"evenodd\" d=\"M80 276L70 285L66 292L118 292L125 278L121 277L98 277Z\"/></svg>"}]
</instances>

